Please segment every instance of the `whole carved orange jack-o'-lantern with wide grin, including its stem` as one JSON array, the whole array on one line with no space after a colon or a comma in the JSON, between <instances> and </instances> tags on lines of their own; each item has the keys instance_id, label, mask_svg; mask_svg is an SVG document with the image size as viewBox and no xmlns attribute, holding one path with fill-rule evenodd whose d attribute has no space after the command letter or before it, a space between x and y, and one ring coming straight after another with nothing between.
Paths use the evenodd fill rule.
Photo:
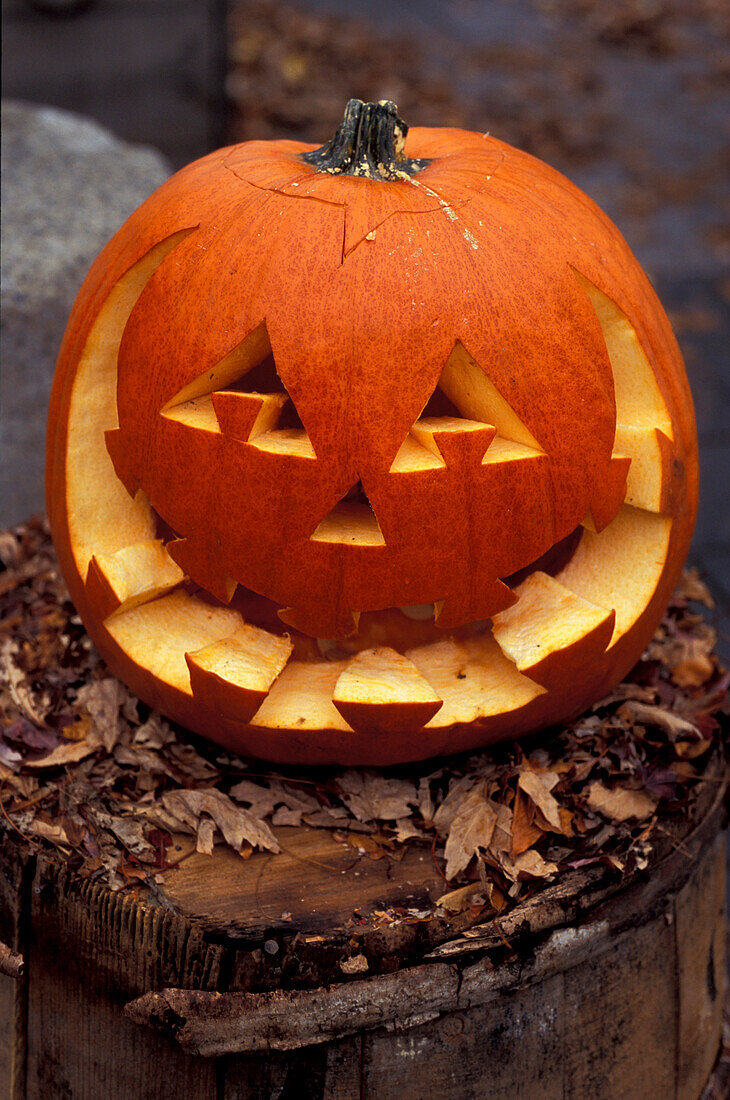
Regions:
<instances>
[{"instance_id":1,"label":"whole carved orange jack-o'-lantern with wide grin, including its stem","mask_svg":"<svg viewBox=\"0 0 730 1100\"><path fill-rule=\"evenodd\" d=\"M54 540L112 671L301 765L585 710L656 628L697 476L682 358L616 227L388 103L164 184L81 287L48 416Z\"/></svg>"}]
</instances>

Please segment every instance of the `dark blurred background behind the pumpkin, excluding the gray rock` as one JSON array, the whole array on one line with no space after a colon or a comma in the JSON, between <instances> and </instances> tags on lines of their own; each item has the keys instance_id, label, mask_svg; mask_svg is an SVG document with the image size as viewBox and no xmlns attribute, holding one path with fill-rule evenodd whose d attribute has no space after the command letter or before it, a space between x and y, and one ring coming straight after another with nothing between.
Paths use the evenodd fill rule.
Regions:
<instances>
[{"instance_id":1,"label":"dark blurred background behind the pumpkin, excluding the gray rock","mask_svg":"<svg viewBox=\"0 0 730 1100\"><path fill-rule=\"evenodd\" d=\"M395 99L411 124L488 130L588 191L645 266L685 354L703 473L690 560L730 656L727 0L40 7L3 0L3 96L87 114L174 167L232 141L322 141L357 96ZM0 521L21 518L0 501Z\"/></svg>"}]
</instances>

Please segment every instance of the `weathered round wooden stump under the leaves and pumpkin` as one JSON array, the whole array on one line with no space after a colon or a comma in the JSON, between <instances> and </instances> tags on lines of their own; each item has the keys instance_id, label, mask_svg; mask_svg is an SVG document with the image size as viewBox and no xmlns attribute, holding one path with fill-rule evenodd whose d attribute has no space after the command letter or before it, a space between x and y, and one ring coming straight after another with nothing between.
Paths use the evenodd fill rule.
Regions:
<instances>
[{"instance_id":1,"label":"weathered round wooden stump under the leaves and pumpkin","mask_svg":"<svg viewBox=\"0 0 730 1100\"><path fill-rule=\"evenodd\" d=\"M697 1100L725 987L717 762L706 778L646 871L577 870L462 934L378 920L443 891L422 849L386 867L280 829L283 855L193 853L153 898L5 828L13 1100Z\"/></svg>"}]
</instances>

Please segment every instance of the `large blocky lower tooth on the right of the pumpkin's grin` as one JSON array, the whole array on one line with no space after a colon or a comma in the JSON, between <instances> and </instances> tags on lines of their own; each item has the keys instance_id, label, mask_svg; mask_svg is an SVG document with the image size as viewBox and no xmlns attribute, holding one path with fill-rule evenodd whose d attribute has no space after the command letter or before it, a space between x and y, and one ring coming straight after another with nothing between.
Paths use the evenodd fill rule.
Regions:
<instances>
[{"instance_id":1,"label":"large blocky lower tooth on the right of the pumpkin's grin","mask_svg":"<svg viewBox=\"0 0 730 1100\"><path fill-rule=\"evenodd\" d=\"M584 600L548 573L531 573L515 593L517 603L494 617L498 646L543 688L569 686L608 648L616 612Z\"/></svg>"}]
</instances>

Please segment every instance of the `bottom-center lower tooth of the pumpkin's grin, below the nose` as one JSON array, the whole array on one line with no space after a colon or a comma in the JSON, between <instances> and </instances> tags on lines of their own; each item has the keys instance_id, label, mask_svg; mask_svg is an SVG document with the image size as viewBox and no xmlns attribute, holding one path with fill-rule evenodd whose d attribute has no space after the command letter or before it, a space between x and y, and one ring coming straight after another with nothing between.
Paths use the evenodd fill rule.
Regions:
<instances>
[{"instance_id":1,"label":"bottom-center lower tooth of the pumpkin's grin, below the nose","mask_svg":"<svg viewBox=\"0 0 730 1100\"><path fill-rule=\"evenodd\" d=\"M332 702L353 729L376 734L420 729L443 703L412 661L387 646L352 659Z\"/></svg>"}]
</instances>

